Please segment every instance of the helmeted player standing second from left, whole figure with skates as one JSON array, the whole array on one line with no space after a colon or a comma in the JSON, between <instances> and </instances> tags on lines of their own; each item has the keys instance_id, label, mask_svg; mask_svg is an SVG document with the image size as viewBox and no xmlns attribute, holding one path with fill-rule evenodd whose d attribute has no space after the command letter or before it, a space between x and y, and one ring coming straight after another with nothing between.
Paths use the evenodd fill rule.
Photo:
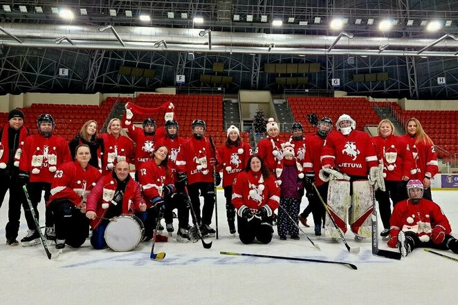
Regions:
<instances>
[{"instance_id":1,"label":"helmeted player standing second from left, whole figure with skates","mask_svg":"<svg viewBox=\"0 0 458 305\"><path fill-rule=\"evenodd\" d=\"M38 135L29 135L24 141L21 161L19 161L19 179L21 184L26 182L30 201L32 201L35 214L39 217L37 205L42 199L48 201L51 195L51 181L57 167L65 162L71 161L70 150L64 137L53 135L55 121L48 113L39 115L37 119ZM26 202L24 214L26 216L28 233L21 239L23 246L38 244L39 233L36 230L32 212ZM54 219L51 210L46 208L46 230L45 237L49 240L55 239Z\"/></svg>"}]
</instances>

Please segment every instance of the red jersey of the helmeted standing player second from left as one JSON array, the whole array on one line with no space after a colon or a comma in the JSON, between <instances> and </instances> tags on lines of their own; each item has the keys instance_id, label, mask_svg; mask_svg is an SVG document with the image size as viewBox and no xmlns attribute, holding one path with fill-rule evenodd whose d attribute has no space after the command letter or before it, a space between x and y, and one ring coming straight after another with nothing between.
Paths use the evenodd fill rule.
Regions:
<instances>
[{"instance_id":1,"label":"red jersey of the helmeted standing player second from left","mask_svg":"<svg viewBox=\"0 0 458 305\"><path fill-rule=\"evenodd\" d=\"M21 150L19 170L30 173L30 182L51 183L57 166L71 161L67 141L58 135L29 135Z\"/></svg>"}]
</instances>

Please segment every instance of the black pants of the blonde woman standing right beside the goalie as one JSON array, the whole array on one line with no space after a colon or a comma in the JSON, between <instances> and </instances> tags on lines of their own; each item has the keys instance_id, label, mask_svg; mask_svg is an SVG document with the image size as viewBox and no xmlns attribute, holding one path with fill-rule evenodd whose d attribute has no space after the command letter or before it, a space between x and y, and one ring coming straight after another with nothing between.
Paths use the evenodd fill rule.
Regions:
<instances>
[{"instance_id":1,"label":"black pants of the blonde woman standing right beside the goalie","mask_svg":"<svg viewBox=\"0 0 458 305\"><path fill-rule=\"evenodd\" d=\"M380 217L382 219L383 228L390 228L390 217L391 217L391 200L393 206L399 201L407 199L407 190L405 181L385 181L385 192L376 190L375 197L378 202L378 210L380 211Z\"/></svg>"}]
</instances>

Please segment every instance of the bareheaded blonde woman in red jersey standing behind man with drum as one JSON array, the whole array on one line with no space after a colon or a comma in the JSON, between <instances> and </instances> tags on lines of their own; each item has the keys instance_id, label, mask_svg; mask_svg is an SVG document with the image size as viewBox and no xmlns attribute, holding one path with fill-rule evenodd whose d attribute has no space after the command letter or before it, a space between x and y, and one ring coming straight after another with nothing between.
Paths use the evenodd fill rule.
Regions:
<instances>
[{"instance_id":1,"label":"bareheaded blonde woman in red jersey standing behind man with drum","mask_svg":"<svg viewBox=\"0 0 458 305\"><path fill-rule=\"evenodd\" d=\"M111 170L119 161L127 161L129 163L134 157L134 143L122 130L120 119L111 119L107 126L107 133L102 133L100 137L104 143L102 175L111 173Z\"/></svg>"}]
</instances>

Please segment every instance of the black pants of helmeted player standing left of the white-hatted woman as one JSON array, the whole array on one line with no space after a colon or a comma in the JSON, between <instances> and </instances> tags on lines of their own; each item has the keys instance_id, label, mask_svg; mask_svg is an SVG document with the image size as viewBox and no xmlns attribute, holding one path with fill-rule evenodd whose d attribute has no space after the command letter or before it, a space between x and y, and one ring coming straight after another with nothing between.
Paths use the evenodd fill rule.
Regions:
<instances>
[{"instance_id":1,"label":"black pants of helmeted player standing left of the white-hatted woman","mask_svg":"<svg viewBox=\"0 0 458 305\"><path fill-rule=\"evenodd\" d=\"M197 222L210 225L212 223L214 209L214 184L212 182L196 182L187 186L192 208L196 213ZM201 199L203 197L203 208L201 215Z\"/></svg>"}]
</instances>

